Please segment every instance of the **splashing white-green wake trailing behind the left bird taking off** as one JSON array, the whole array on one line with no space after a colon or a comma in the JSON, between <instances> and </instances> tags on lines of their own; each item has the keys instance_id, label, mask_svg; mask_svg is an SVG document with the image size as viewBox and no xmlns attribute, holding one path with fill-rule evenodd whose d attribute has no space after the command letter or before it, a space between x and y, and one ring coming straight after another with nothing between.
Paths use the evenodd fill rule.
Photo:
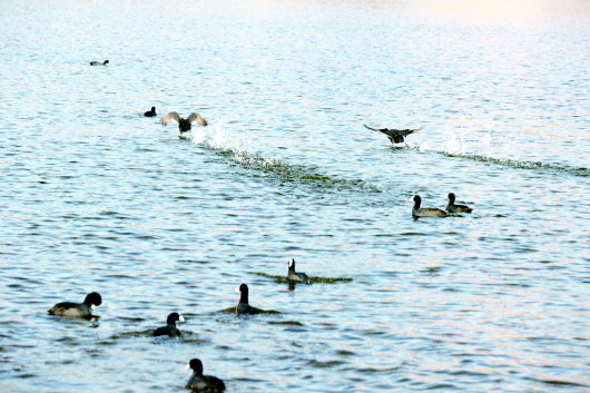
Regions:
<instances>
[{"instance_id":1,"label":"splashing white-green wake trailing behind the left bird taking off","mask_svg":"<svg viewBox=\"0 0 590 393\"><path fill-rule=\"evenodd\" d=\"M279 183L307 185L323 190L381 193L377 187L361 179L330 176L314 166L288 164L276 157L252 153L255 150L254 140L247 135L229 130L223 122L215 122L207 129L194 130L193 143L216 150L243 168L264 174Z\"/></svg>"}]
</instances>

